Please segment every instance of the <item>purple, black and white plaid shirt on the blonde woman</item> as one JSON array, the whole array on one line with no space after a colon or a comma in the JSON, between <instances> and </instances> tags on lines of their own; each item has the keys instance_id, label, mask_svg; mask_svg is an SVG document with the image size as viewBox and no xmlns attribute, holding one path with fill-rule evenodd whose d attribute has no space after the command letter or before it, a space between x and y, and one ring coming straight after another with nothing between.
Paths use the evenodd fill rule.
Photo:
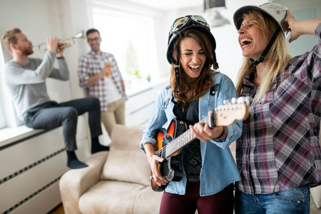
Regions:
<instances>
[{"instance_id":1,"label":"purple, black and white plaid shirt on the blonde woman","mask_svg":"<svg viewBox=\"0 0 321 214\"><path fill-rule=\"evenodd\" d=\"M321 24L315 34L321 37ZM292 58L266 96L250 107L237 141L238 190L269 194L321 183L321 42ZM255 96L250 76L241 96Z\"/></svg>"}]
</instances>

